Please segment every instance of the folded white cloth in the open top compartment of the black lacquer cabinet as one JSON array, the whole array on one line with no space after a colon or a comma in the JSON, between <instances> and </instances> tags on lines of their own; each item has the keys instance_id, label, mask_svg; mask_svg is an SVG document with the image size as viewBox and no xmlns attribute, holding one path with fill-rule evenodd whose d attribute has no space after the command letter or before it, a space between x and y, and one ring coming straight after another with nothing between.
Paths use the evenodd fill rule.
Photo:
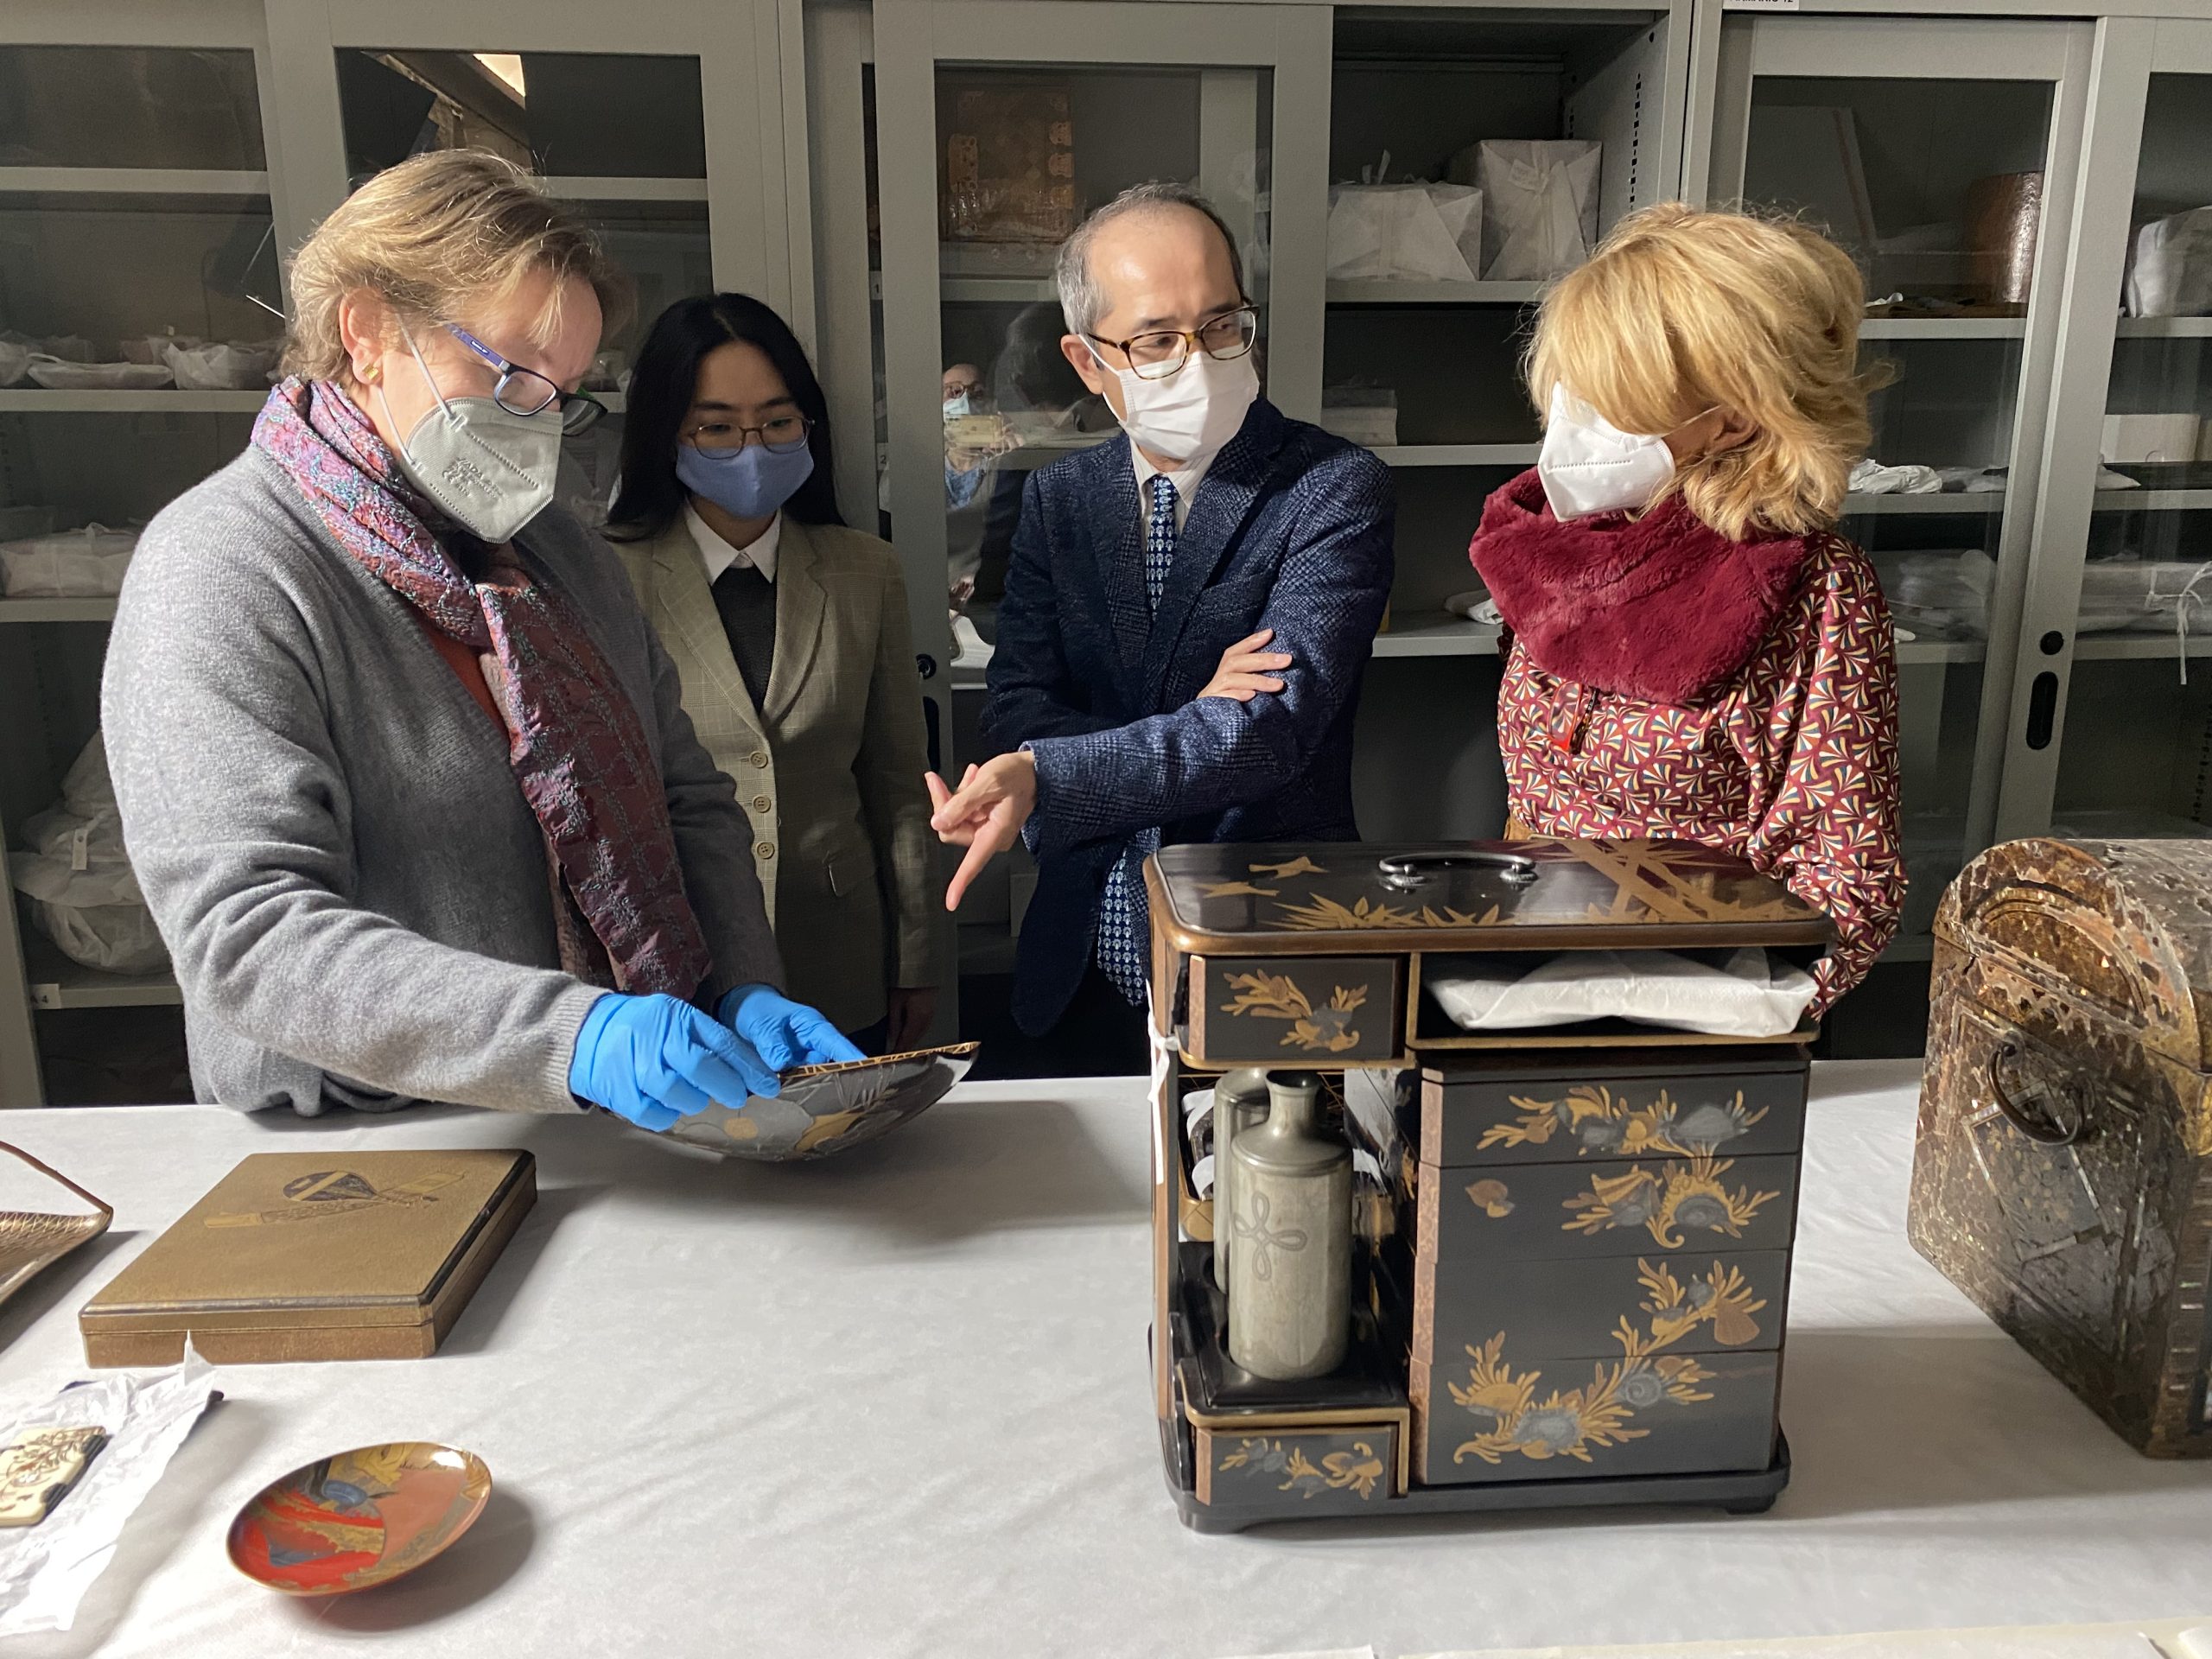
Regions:
<instances>
[{"instance_id":1,"label":"folded white cloth in the open top compartment of the black lacquer cabinet","mask_svg":"<svg viewBox=\"0 0 2212 1659\"><path fill-rule=\"evenodd\" d=\"M1721 967L1674 951L1562 951L1533 969L1440 967L1427 987L1464 1031L1628 1020L1714 1037L1781 1037L1796 1031L1814 998L1805 969L1770 962L1756 947Z\"/></svg>"}]
</instances>

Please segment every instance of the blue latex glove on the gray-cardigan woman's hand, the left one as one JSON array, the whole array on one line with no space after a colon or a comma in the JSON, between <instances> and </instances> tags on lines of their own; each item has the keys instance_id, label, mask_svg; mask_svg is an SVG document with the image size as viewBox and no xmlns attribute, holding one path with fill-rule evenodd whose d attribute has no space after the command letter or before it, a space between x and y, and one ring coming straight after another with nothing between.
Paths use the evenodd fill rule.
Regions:
<instances>
[{"instance_id":1,"label":"blue latex glove on the gray-cardigan woman's hand, the left one","mask_svg":"<svg viewBox=\"0 0 2212 1659\"><path fill-rule=\"evenodd\" d=\"M655 1133L710 1104L737 1108L774 1095L776 1066L763 1064L688 1002L608 993L591 1004L568 1060L568 1093Z\"/></svg>"}]
</instances>

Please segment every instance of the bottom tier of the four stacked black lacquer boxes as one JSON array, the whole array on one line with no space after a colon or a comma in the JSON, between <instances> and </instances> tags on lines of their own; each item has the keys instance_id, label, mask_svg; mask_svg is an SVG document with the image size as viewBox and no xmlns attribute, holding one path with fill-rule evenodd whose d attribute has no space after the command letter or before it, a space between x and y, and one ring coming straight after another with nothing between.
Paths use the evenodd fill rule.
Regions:
<instances>
[{"instance_id":1,"label":"bottom tier of the four stacked black lacquer boxes","mask_svg":"<svg viewBox=\"0 0 2212 1659\"><path fill-rule=\"evenodd\" d=\"M1504 1352L1413 1365L1422 1486L1765 1469L1778 1354L1544 1360Z\"/></svg>"}]
</instances>

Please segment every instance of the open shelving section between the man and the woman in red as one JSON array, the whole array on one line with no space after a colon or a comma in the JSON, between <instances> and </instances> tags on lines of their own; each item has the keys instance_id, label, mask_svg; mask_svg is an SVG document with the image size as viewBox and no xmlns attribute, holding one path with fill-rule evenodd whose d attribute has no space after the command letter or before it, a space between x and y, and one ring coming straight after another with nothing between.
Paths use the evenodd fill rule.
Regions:
<instances>
[{"instance_id":1,"label":"open shelving section between the man and the woman in red","mask_svg":"<svg viewBox=\"0 0 2212 1659\"><path fill-rule=\"evenodd\" d=\"M1498 626L1467 544L1535 465L1537 296L1679 188L1686 66L1688 7L1336 9L1321 425L1398 484L1354 761L1369 836L1504 825Z\"/></svg>"}]
</instances>

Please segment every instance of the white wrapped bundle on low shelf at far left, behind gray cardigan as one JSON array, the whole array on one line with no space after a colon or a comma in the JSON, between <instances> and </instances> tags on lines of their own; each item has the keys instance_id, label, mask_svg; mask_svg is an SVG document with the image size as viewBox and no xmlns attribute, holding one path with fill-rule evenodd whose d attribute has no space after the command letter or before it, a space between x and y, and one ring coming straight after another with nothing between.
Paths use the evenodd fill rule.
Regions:
<instances>
[{"instance_id":1,"label":"white wrapped bundle on low shelf at far left, behind gray cardigan","mask_svg":"<svg viewBox=\"0 0 2212 1659\"><path fill-rule=\"evenodd\" d=\"M31 922L71 960L106 973L159 973L168 949L146 909L124 823L108 781L108 754L93 734L60 803L24 823L27 856L13 860L15 889L31 900Z\"/></svg>"}]
</instances>

